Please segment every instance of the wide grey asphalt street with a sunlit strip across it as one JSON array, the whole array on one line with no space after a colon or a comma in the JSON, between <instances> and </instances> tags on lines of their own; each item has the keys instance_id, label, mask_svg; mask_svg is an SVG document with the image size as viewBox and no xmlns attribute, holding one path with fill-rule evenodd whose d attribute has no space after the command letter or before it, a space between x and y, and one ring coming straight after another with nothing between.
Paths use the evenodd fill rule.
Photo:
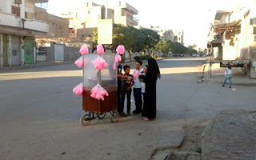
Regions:
<instances>
[{"instance_id":1,"label":"wide grey asphalt street with a sunlit strip across it","mask_svg":"<svg viewBox=\"0 0 256 160\"><path fill-rule=\"evenodd\" d=\"M72 90L82 70L74 64L0 71L0 159L164 159L165 150L188 144L188 128L202 131L219 111L256 109L254 87L198 83L204 60L158 60L156 120L130 115L113 123L107 114L89 126L79 122L82 97Z\"/></svg>"}]
</instances>

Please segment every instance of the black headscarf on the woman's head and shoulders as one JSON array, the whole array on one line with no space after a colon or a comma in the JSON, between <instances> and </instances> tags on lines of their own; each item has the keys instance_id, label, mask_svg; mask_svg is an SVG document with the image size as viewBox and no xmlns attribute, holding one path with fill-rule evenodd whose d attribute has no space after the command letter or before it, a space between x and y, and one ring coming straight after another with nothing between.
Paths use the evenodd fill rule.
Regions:
<instances>
[{"instance_id":1,"label":"black headscarf on the woman's head and shoulders","mask_svg":"<svg viewBox=\"0 0 256 160\"><path fill-rule=\"evenodd\" d=\"M146 72L146 78L152 80L157 80L158 78L160 79L161 74L156 60L154 58L149 58L147 63L149 65L149 69Z\"/></svg>"}]
</instances>

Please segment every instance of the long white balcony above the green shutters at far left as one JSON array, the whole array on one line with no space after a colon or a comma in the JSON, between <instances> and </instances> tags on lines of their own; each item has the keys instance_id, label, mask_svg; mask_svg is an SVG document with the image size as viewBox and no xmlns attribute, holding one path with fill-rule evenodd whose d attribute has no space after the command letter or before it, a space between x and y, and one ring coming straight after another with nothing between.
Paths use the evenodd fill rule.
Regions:
<instances>
[{"instance_id":1,"label":"long white balcony above the green shutters at far left","mask_svg":"<svg viewBox=\"0 0 256 160\"><path fill-rule=\"evenodd\" d=\"M47 22L38 21L35 19L20 18L15 14L6 14L0 12L0 26L6 26L10 30L31 30L37 33L47 33L49 25ZM13 27L13 28L12 28ZM18 29L18 30L17 30Z\"/></svg>"}]
</instances>

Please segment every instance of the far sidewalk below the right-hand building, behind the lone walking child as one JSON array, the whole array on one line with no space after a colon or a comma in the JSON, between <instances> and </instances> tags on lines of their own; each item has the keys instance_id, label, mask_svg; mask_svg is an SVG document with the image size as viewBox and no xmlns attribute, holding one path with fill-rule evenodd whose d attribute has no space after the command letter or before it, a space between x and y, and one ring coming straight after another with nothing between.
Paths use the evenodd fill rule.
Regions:
<instances>
[{"instance_id":1,"label":"far sidewalk below the right-hand building, behind the lone walking child","mask_svg":"<svg viewBox=\"0 0 256 160\"><path fill-rule=\"evenodd\" d=\"M205 76L206 82L222 84L224 81L225 67L220 67L219 63L214 63L211 67L211 78L210 78L210 67L209 62L206 61ZM228 84L228 81L226 82ZM247 74L244 73L241 67L232 68L232 86L256 86L256 79L250 79Z\"/></svg>"}]
</instances>

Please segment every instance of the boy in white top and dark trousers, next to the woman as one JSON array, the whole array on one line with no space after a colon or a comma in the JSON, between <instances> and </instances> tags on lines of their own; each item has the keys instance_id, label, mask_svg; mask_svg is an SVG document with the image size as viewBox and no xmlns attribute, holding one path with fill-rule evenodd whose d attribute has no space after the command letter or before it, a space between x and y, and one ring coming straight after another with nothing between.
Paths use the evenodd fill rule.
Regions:
<instances>
[{"instance_id":1,"label":"boy in white top and dark trousers, next to the woman","mask_svg":"<svg viewBox=\"0 0 256 160\"><path fill-rule=\"evenodd\" d=\"M135 63L135 69L138 70L138 74L142 73L142 60L137 60ZM134 70L134 73L135 71ZM134 78L134 100L136 109L133 111L134 114L142 113L142 84L138 78Z\"/></svg>"}]
</instances>

